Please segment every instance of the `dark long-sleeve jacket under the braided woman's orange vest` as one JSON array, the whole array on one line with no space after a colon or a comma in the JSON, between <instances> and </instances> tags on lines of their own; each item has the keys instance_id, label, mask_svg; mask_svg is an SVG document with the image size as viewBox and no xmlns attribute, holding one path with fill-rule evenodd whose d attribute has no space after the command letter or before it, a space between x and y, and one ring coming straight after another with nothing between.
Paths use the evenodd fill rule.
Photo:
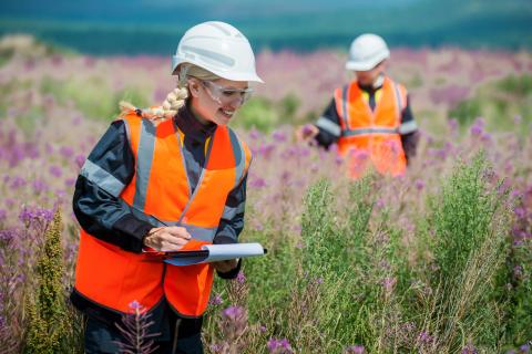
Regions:
<instances>
[{"instance_id":1,"label":"dark long-sleeve jacket under the braided woman's orange vest","mask_svg":"<svg viewBox=\"0 0 532 354\"><path fill-rule=\"evenodd\" d=\"M194 190L197 187L201 169L205 166L205 142L214 134L215 124L202 125L185 106L174 117L174 122L184 135L183 154L186 158L188 180ZM81 227L90 235L120 248L141 252L143 238L155 226L136 218L130 207L116 196L131 183L135 170L135 159L127 142L125 125L122 121L111 124L103 137L88 157L86 164L96 165L115 178L113 186L99 185L88 178L83 169L78 177L73 197L73 209ZM237 242L244 228L244 205L246 200L246 179L235 187L227 197L226 206L238 210L232 219L222 219L214 237L214 243ZM223 278L234 278L238 267L228 273L218 273Z\"/></svg>"}]
</instances>

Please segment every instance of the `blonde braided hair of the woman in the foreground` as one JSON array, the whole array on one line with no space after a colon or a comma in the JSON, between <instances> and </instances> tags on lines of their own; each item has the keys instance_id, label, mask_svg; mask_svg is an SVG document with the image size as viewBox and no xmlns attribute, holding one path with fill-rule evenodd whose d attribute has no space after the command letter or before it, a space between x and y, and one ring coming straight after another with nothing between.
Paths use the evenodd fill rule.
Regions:
<instances>
[{"instance_id":1,"label":"blonde braided hair of the woman in the foreground","mask_svg":"<svg viewBox=\"0 0 532 354\"><path fill-rule=\"evenodd\" d=\"M196 77L202 81L215 81L221 79L203 67L185 63L180 67L177 87L168 93L162 106L142 110L142 117L151 121L165 121L173 118L188 98L188 77ZM137 110L137 107L126 101L121 101L119 106L122 112L121 115Z\"/></svg>"}]
</instances>

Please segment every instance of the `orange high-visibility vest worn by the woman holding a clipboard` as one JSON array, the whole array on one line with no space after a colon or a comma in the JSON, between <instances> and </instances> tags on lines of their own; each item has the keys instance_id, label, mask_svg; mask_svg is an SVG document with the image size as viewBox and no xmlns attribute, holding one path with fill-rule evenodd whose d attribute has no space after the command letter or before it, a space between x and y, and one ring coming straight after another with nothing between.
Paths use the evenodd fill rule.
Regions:
<instances>
[{"instance_id":1,"label":"orange high-visibility vest worn by the woman holding a clipboard","mask_svg":"<svg viewBox=\"0 0 532 354\"><path fill-rule=\"evenodd\" d=\"M120 198L154 226L185 227L193 238L186 249L212 243L221 218L234 212L225 204L249 166L247 146L228 127L216 127L197 187L191 191L182 134L173 119L154 126L135 112L123 119L135 174ZM212 281L209 264L168 266L156 256L124 251L81 230L74 287L100 306L126 313L136 300L150 310L165 295L180 314L195 317L205 312Z\"/></svg>"}]
</instances>

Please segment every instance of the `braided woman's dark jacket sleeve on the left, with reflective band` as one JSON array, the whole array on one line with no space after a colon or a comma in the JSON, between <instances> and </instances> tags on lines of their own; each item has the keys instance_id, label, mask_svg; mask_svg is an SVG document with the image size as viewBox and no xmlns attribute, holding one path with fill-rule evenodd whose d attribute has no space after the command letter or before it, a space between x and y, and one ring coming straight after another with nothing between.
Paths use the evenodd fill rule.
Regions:
<instances>
[{"instance_id":1,"label":"braided woman's dark jacket sleeve on the left, with reflective band","mask_svg":"<svg viewBox=\"0 0 532 354\"><path fill-rule=\"evenodd\" d=\"M126 251L141 252L143 238L153 226L133 216L119 198L131 183L134 168L125 124L113 122L78 176L72 205L86 232Z\"/></svg>"}]
</instances>

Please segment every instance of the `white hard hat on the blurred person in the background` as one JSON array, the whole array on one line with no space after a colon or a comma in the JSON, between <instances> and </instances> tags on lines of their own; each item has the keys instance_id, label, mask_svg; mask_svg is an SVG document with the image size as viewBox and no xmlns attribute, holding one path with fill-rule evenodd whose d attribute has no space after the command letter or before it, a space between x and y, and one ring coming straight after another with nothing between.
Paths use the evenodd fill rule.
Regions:
<instances>
[{"instance_id":1,"label":"white hard hat on the blurred person in the background","mask_svg":"<svg viewBox=\"0 0 532 354\"><path fill-rule=\"evenodd\" d=\"M346 69L368 71L387 58L390 58L390 51L385 40L377 34L365 33L352 41Z\"/></svg>"}]
</instances>

